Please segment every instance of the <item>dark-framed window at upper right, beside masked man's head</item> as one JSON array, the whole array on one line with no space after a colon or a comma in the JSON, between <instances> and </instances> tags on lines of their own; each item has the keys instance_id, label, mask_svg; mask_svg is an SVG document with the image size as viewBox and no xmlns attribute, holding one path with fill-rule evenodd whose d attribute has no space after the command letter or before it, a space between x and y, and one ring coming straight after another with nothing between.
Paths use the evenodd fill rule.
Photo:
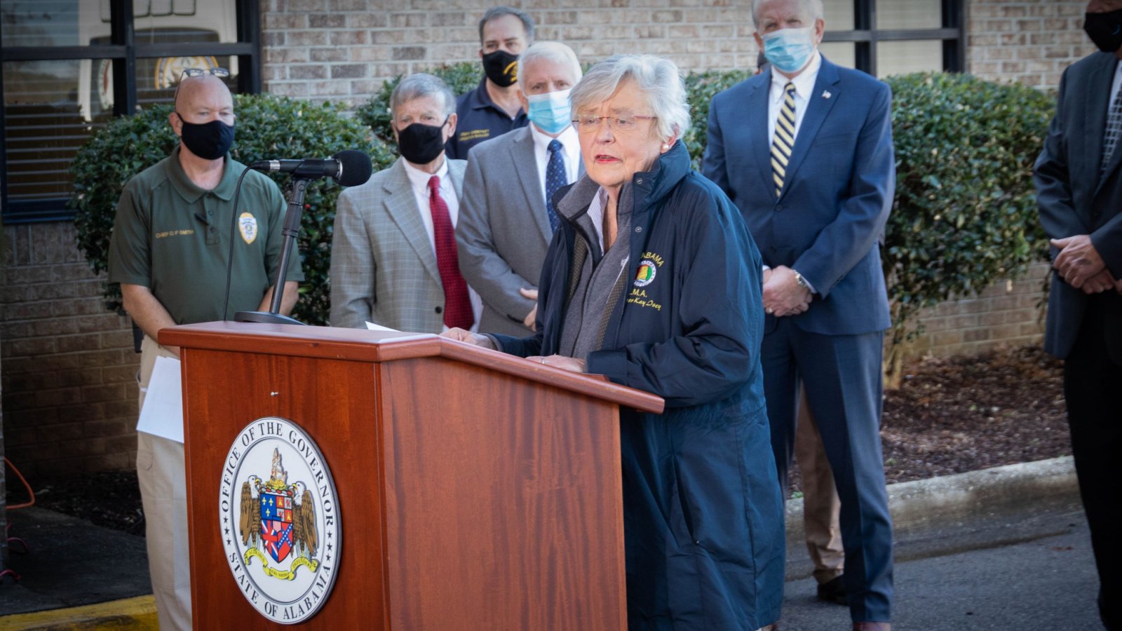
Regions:
<instances>
[{"instance_id":1,"label":"dark-framed window at upper right, beside masked man's head","mask_svg":"<svg viewBox=\"0 0 1122 631\"><path fill-rule=\"evenodd\" d=\"M825 0L830 61L888 76L966 68L966 0Z\"/></svg>"}]
</instances>

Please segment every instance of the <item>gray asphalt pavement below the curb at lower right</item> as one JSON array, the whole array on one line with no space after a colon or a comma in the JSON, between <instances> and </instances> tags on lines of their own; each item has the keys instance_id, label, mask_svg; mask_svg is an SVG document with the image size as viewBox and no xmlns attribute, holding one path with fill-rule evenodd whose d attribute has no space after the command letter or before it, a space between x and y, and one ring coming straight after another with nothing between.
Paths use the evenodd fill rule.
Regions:
<instances>
[{"instance_id":1,"label":"gray asphalt pavement below the curb at lower right","mask_svg":"<svg viewBox=\"0 0 1122 631\"><path fill-rule=\"evenodd\" d=\"M1004 523L963 524L959 551L930 540L898 543L893 631L1096 631L1098 578L1079 504L1034 511ZM950 542L954 532L934 536ZM994 542L996 545L994 546ZM789 551L788 574L802 550ZM904 557L909 560L900 560ZM780 631L844 631L848 607L815 597L813 578L789 578Z\"/></svg>"}]
</instances>

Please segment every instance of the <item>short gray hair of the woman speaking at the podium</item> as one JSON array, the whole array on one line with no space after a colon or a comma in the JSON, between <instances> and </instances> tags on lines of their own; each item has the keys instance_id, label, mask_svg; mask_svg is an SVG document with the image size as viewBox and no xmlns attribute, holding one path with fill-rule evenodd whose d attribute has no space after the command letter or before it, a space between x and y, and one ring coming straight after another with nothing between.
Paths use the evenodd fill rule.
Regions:
<instances>
[{"instance_id":1,"label":"short gray hair of the woman speaking at the podium","mask_svg":"<svg viewBox=\"0 0 1122 631\"><path fill-rule=\"evenodd\" d=\"M674 62L654 55L613 55L589 68L569 93L573 112L596 107L619 88L634 81L654 112L659 137L686 134L690 127L690 106L686 101L686 84Z\"/></svg>"}]
</instances>

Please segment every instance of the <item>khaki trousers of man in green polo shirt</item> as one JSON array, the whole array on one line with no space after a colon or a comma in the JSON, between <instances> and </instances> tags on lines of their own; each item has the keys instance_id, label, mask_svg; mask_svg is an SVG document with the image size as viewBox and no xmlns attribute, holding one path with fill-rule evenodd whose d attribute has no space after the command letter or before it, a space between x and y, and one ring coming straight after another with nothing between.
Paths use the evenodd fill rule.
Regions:
<instances>
[{"instance_id":1,"label":"khaki trousers of man in green polo shirt","mask_svg":"<svg viewBox=\"0 0 1122 631\"><path fill-rule=\"evenodd\" d=\"M156 357L175 357L145 336L140 345L140 406ZM137 432L137 479L144 503L148 573L159 628L191 629L191 558L187 548L186 473L183 445Z\"/></svg>"}]
</instances>

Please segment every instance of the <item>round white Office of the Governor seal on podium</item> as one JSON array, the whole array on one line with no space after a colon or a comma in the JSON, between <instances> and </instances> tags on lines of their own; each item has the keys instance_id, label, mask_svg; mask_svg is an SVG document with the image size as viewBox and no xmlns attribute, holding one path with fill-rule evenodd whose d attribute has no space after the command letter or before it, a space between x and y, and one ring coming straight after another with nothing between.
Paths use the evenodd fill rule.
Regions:
<instances>
[{"instance_id":1,"label":"round white Office of the Governor seal on podium","mask_svg":"<svg viewBox=\"0 0 1122 631\"><path fill-rule=\"evenodd\" d=\"M266 417L238 432L219 528L237 588L261 615L294 624L327 602L342 542L337 497L323 455L296 423Z\"/></svg>"}]
</instances>

